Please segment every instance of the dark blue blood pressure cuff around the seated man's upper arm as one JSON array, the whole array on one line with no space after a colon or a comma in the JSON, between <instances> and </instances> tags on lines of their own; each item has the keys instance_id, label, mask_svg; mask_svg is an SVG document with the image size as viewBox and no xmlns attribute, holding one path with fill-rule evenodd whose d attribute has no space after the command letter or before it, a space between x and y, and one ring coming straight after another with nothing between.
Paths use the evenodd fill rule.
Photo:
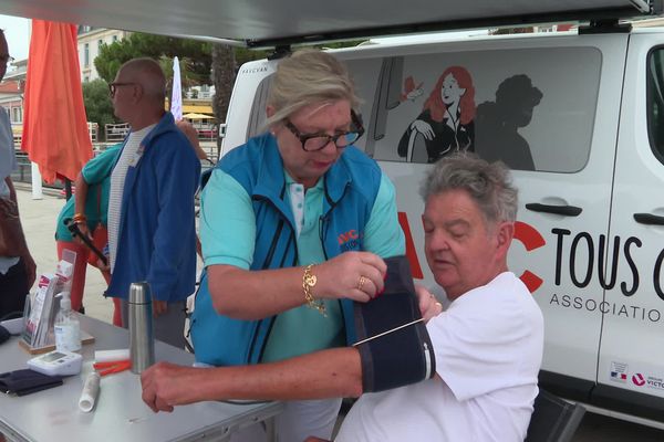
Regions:
<instances>
[{"instance_id":1,"label":"dark blue blood pressure cuff around the seated man's upper arm","mask_svg":"<svg viewBox=\"0 0 664 442\"><path fill-rule=\"evenodd\" d=\"M436 373L408 260L394 256L385 263L383 294L354 306L357 341L353 346L360 350L364 392L403 387Z\"/></svg>"}]
</instances>

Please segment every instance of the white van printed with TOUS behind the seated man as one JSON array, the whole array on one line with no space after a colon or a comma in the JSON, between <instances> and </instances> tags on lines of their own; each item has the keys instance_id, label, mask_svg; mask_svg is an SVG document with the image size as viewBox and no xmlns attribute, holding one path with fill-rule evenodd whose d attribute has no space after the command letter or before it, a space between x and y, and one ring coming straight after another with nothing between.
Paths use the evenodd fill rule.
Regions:
<instances>
[{"instance_id":1,"label":"white van printed with TOUS behind the seated man","mask_svg":"<svg viewBox=\"0 0 664 442\"><path fill-rule=\"evenodd\" d=\"M504 160L520 190L509 264L546 318L541 386L664 422L664 29L428 40L334 51L364 99L357 146L396 186L413 274L433 283L429 162ZM240 67L224 152L262 129L278 62ZM458 120L427 106L450 74Z\"/></svg>"}]
</instances>

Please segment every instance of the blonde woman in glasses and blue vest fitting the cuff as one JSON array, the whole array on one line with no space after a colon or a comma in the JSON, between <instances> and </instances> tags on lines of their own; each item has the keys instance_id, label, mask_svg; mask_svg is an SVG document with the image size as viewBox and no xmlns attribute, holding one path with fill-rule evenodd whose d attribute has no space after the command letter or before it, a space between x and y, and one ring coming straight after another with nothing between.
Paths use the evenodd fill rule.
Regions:
<instances>
[{"instance_id":1,"label":"blonde woman in glasses and blue vest fitting the cuff","mask_svg":"<svg viewBox=\"0 0 664 442\"><path fill-rule=\"evenodd\" d=\"M356 108L334 56L309 50L280 61L269 130L226 154L201 193L206 273L191 318L198 362L276 362L352 343L352 301L383 290L381 256L405 253L394 186L353 147L363 133ZM279 440L329 438L340 406L286 403Z\"/></svg>"}]
</instances>

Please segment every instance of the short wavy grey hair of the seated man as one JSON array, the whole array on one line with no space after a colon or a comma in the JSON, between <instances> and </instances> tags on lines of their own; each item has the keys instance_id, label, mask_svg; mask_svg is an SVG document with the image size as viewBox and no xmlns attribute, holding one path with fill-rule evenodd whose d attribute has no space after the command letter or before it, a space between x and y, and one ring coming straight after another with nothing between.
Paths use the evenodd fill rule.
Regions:
<instances>
[{"instance_id":1,"label":"short wavy grey hair of the seated man","mask_svg":"<svg viewBox=\"0 0 664 442\"><path fill-rule=\"evenodd\" d=\"M518 190L501 161L489 164L475 154L458 152L439 159L428 171L419 194L426 200L449 190L465 190L488 223L515 222Z\"/></svg>"}]
</instances>

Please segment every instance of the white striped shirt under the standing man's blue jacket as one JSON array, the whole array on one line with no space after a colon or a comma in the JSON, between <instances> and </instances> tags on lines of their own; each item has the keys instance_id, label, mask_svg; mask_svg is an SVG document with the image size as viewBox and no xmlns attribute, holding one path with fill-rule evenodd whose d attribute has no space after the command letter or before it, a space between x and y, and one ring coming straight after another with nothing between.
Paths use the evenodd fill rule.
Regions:
<instances>
[{"instance_id":1,"label":"white striped shirt under the standing man's blue jacket","mask_svg":"<svg viewBox=\"0 0 664 442\"><path fill-rule=\"evenodd\" d=\"M129 166L136 167L143 152L138 151L143 138L155 127L156 124L132 131L129 138L117 159L117 164L111 172L111 191L108 194L108 255L111 257L111 273L115 269L115 256L117 255L117 241L120 240L120 220L122 219L122 196L124 182Z\"/></svg>"}]
</instances>

